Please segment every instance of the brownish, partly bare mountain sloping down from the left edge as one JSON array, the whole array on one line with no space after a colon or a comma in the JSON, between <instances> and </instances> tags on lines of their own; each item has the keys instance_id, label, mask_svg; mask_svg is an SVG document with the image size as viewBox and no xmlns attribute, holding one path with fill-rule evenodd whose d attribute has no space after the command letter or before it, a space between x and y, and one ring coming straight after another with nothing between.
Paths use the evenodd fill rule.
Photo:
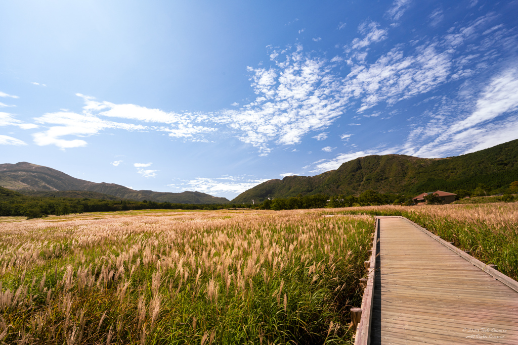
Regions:
<instances>
[{"instance_id":1,"label":"brownish, partly bare mountain sloping down from the left edge","mask_svg":"<svg viewBox=\"0 0 518 345\"><path fill-rule=\"evenodd\" d=\"M185 204L227 203L226 198L218 198L200 192L182 193L133 190L113 183L95 183L69 176L52 168L27 162L0 164L0 186L17 191L90 191L107 194L118 199L150 200Z\"/></svg>"}]
</instances>

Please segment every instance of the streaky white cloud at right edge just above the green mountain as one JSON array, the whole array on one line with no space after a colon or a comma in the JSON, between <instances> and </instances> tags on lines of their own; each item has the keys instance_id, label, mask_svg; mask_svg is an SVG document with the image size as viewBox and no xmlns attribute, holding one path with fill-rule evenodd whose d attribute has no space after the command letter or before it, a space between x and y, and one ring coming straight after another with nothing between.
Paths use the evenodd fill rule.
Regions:
<instances>
[{"instance_id":1,"label":"streaky white cloud at right edge just above the green mountain","mask_svg":"<svg viewBox=\"0 0 518 345\"><path fill-rule=\"evenodd\" d=\"M518 68L509 68L488 81L474 100L471 97L465 102L445 99L442 109L437 111L439 117L431 118L410 132L402 153L442 157L517 139L517 89ZM423 145L424 139L428 142Z\"/></svg>"}]
</instances>

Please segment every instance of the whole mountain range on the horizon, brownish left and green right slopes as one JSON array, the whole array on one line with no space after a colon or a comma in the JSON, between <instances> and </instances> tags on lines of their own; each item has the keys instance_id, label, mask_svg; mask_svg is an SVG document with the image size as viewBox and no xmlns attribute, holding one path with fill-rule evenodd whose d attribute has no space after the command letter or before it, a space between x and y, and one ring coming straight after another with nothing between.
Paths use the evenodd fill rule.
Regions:
<instances>
[{"instance_id":1,"label":"whole mountain range on the horizon, brownish left and green right slopes","mask_svg":"<svg viewBox=\"0 0 518 345\"><path fill-rule=\"evenodd\" d=\"M316 176L270 179L230 201L260 203L268 198L313 194L358 195L366 190L418 195L443 190L472 191L506 188L518 181L518 140L481 151L447 158L372 155L345 162L336 170ZM27 162L0 164L0 186L38 197L149 200L184 204L223 204L228 199L197 191L182 193L133 190L113 183L95 183L52 168Z\"/></svg>"}]
</instances>

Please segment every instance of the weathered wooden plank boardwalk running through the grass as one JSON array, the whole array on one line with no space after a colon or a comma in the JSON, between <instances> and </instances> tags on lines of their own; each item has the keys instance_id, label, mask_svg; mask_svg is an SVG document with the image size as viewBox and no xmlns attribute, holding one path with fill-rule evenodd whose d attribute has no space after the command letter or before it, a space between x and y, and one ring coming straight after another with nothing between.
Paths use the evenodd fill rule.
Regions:
<instances>
[{"instance_id":1,"label":"weathered wooden plank boardwalk running through the grass","mask_svg":"<svg viewBox=\"0 0 518 345\"><path fill-rule=\"evenodd\" d=\"M380 218L378 236L371 344L518 344L514 281L404 218Z\"/></svg>"}]
</instances>

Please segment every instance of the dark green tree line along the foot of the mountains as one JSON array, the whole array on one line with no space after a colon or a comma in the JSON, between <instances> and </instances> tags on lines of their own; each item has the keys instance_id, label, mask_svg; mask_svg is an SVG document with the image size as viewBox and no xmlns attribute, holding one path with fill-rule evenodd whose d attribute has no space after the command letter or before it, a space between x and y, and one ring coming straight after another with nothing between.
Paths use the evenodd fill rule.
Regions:
<instances>
[{"instance_id":1,"label":"dark green tree line along the foot of the mountains","mask_svg":"<svg viewBox=\"0 0 518 345\"><path fill-rule=\"evenodd\" d=\"M491 195L490 187L479 184L474 190L456 190L457 199L473 196ZM511 194L518 193L518 181L515 181L504 190L505 201L513 201ZM155 201L133 201L133 200L101 200L90 198L53 198L53 197L30 197L21 193L0 187L0 216L24 216L28 219L40 218L46 215L68 215L84 212L116 212L140 209L228 209L228 208L251 208L251 209L272 209L280 211L283 209L304 209L304 208L336 208L351 206L369 205L412 205L412 197L407 194L378 193L375 190L366 190L359 196L339 194L328 196L326 194L314 194L297 197L267 199L260 204L180 204ZM440 203L433 195L427 197L429 203Z\"/></svg>"}]
</instances>

